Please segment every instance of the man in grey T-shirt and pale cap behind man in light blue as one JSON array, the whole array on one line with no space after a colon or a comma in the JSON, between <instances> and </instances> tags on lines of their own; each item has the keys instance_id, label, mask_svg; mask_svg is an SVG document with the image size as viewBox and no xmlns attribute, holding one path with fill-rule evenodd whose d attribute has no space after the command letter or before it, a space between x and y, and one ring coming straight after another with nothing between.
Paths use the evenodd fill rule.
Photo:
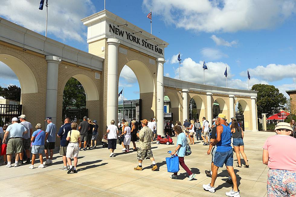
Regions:
<instances>
[{"instance_id":1,"label":"man in grey T-shirt and pale cap behind man in light blue","mask_svg":"<svg viewBox=\"0 0 296 197\"><path fill-rule=\"evenodd\" d=\"M27 161L25 162L25 164L30 164L30 145L31 145L31 136L33 134L33 129L32 129L32 125L30 122L26 121L26 115L22 114L21 116L18 116L18 118L20 119L22 125L24 125L27 128L27 133L23 136L23 147L26 151L26 156L27 156ZM21 151L20 153L20 161L19 164L23 164L23 151Z\"/></svg>"}]
</instances>

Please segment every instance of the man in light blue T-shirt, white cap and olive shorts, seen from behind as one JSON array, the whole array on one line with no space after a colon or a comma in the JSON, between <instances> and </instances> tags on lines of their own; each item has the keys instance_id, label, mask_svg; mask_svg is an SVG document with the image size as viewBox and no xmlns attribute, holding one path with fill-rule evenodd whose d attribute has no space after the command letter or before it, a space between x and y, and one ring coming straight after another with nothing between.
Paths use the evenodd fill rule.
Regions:
<instances>
[{"instance_id":1,"label":"man in light blue T-shirt, white cap and olive shorts, seen from behind","mask_svg":"<svg viewBox=\"0 0 296 197\"><path fill-rule=\"evenodd\" d=\"M12 118L12 124L9 125L5 131L3 141L2 143L5 143L6 138L8 137L8 143L7 143L7 165L6 167L12 167L11 166L11 155L15 153L15 164L14 167L18 167L20 164L18 164L18 159L20 157L20 153L23 151L23 136L26 134L27 128L18 123L18 118L14 117Z\"/></svg>"}]
</instances>

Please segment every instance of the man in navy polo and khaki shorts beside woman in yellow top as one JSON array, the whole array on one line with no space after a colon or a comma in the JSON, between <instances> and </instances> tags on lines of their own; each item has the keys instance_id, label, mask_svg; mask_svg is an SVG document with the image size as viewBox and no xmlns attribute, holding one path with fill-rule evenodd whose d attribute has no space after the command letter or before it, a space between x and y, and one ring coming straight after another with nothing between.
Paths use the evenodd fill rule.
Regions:
<instances>
[{"instance_id":1,"label":"man in navy polo and khaki shorts beside woman in yellow top","mask_svg":"<svg viewBox=\"0 0 296 197\"><path fill-rule=\"evenodd\" d=\"M68 132L72 130L71 128L71 123L70 123L70 119L69 118L65 118L65 121L59 132L58 132L58 138L61 138L61 145L60 145L60 155L63 155L63 163L64 163L64 167L60 168L60 170L69 170L70 167L68 167L67 165L67 157L66 157L66 151L67 151L67 145L68 145L68 141L67 141L67 135Z\"/></svg>"}]
</instances>

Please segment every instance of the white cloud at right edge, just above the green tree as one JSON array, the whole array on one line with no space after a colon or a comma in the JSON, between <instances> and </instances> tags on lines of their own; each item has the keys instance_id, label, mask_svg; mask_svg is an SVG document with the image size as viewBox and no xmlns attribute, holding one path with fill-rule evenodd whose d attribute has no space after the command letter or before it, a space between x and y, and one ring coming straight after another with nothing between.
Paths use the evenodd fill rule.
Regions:
<instances>
[{"instance_id":1,"label":"white cloud at right edge, just above the green tree","mask_svg":"<svg viewBox=\"0 0 296 197\"><path fill-rule=\"evenodd\" d=\"M241 76L246 76L247 71L240 73ZM293 78L296 76L296 64L276 65L269 64L267 66L257 66L249 68L251 78L256 76L266 81L279 81L284 78Z\"/></svg>"}]
</instances>

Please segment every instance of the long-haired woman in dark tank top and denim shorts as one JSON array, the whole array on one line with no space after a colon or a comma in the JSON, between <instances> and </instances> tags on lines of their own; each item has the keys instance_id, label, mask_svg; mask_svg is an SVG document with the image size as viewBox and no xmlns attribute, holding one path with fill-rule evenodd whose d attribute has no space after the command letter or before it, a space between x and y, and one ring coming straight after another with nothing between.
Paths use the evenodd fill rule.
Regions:
<instances>
[{"instance_id":1,"label":"long-haired woman in dark tank top and denim shorts","mask_svg":"<svg viewBox=\"0 0 296 197\"><path fill-rule=\"evenodd\" d=\"M230 124L230 129L232 132L232 138L233 138L233 148L236 153L236 158L237 158L237 165L236 167L242 167L241 161L240 161L240 154L242 154L243 159L245 160L245 166L244 167L249 167L247 156L244 152L244 143L243 143L243 129L238 126L237 121L234 119L231 124Z\"/></svg>"}]
</instances>

